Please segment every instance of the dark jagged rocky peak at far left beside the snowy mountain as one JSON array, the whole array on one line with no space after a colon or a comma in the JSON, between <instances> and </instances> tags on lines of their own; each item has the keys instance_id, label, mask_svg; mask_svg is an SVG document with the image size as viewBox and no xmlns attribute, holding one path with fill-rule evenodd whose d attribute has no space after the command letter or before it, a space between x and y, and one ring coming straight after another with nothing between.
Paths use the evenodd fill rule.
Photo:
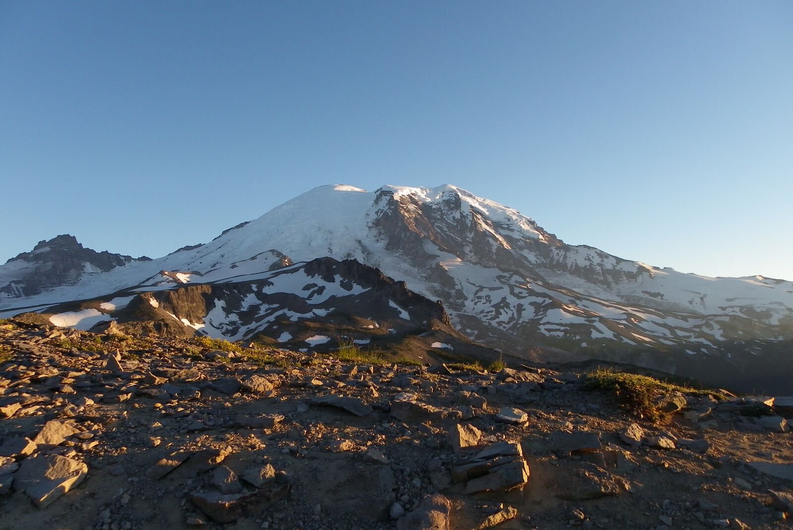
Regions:
<instances>
[{"instance_id":1,"label":"dark jagged rocky peak at far left beside the snowy mountain","mask_svg":"<svg viewBox=\"0 0 793 530\"><path fill-rule=\"evenodd\" d=\"M0 294L24 298L53 287L71 286L82 275L110 271L132 261L151 261L146 256L132 256L96 252L84 248L75 236L67 234L39 241L32 252L23 252L2 266Z\"/></svg>"}]
</instances>

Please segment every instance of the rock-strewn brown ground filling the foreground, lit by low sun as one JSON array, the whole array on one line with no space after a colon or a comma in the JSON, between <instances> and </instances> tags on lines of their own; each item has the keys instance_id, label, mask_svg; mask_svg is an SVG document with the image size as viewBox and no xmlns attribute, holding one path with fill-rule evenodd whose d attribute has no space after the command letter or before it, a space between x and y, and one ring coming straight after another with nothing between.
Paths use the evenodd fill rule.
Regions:
<instances>
[{"instance_id":1,"label":"rock-strewn brown ground filling the foreground, lit by low sun","mask_svg":"<svg viewBox=\"0 0 793 530\"><path fill-rule=\"evenodd\" d=\"M791 528L791 398L0 324L0 528Z\"/></svg>"}]
</instances>

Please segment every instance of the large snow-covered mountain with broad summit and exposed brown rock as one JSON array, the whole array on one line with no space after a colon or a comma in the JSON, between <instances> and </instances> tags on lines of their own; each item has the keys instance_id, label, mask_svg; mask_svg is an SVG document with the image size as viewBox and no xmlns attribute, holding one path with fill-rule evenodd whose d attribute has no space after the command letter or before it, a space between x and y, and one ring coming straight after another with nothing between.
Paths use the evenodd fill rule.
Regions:
<instances>
[{"instance_id":1,"label":"large snow-covered mountain with broad summit and exposed brown rock","mask_svg":"<svg viewBox=\"0 0 793 530\"><path fill-rule=\"evenodd\" d=\"M377 267L441 301L473 340L527 359L639 350L655 359L714 353L736 340L793 339L791 282L682 274L565 244L514 209L449 185L320 186L207 244L109 271L86 267L35 293L23 289L35 275L25 279L12 259L0 267L0 312L130 286L219 282L323 256Z\"/></svg>"}]
</instances>

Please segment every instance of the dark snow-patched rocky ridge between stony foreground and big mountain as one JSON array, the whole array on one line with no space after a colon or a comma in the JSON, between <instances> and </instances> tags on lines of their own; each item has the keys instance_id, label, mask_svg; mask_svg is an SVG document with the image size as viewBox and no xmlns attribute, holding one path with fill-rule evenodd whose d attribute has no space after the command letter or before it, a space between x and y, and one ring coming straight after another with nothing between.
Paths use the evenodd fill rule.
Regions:
<instances>
[{"instance_id":1,"label":"dark snow-patched rocky ridge between stony foreground and big mountain","mask_svg":"<svg viewBox=\"0 0 793 530\"><path fill-rule=\"evenodd\" d=\"M276 263L284 258L272 257ZM440 302L353 259L314 259L211 283L184 282L181 274L163 271L163 281L153 286L67 302L36 314L50 324L84 330L105 329L113 322L116 329L136 335L209 335L303 351L349 345L407 349L411 351L404 356L417 361L429 359L427 352L481 360L498 356L452 328Z\"/></svg>"}]
</instances>

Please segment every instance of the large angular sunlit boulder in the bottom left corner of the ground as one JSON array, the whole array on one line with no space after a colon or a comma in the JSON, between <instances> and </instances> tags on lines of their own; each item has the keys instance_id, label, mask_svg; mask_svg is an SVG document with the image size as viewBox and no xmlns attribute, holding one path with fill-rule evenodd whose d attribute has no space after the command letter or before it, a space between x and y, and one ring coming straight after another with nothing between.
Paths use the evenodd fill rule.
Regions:
<instances>
[{"instance_id":1,"label":"large angular sunlit boulder in the bottom left corner of the ground","mask_svg":"<svg viewBox=\"0 0 793 530\"><path fill-rule=\"evenodd\" d=\"M24 491L39 508L46 508L67 494L88 474L88 466L60 455L40 455L25 459L13 475L13 489Z\"/></svg>"}]
</instances>

